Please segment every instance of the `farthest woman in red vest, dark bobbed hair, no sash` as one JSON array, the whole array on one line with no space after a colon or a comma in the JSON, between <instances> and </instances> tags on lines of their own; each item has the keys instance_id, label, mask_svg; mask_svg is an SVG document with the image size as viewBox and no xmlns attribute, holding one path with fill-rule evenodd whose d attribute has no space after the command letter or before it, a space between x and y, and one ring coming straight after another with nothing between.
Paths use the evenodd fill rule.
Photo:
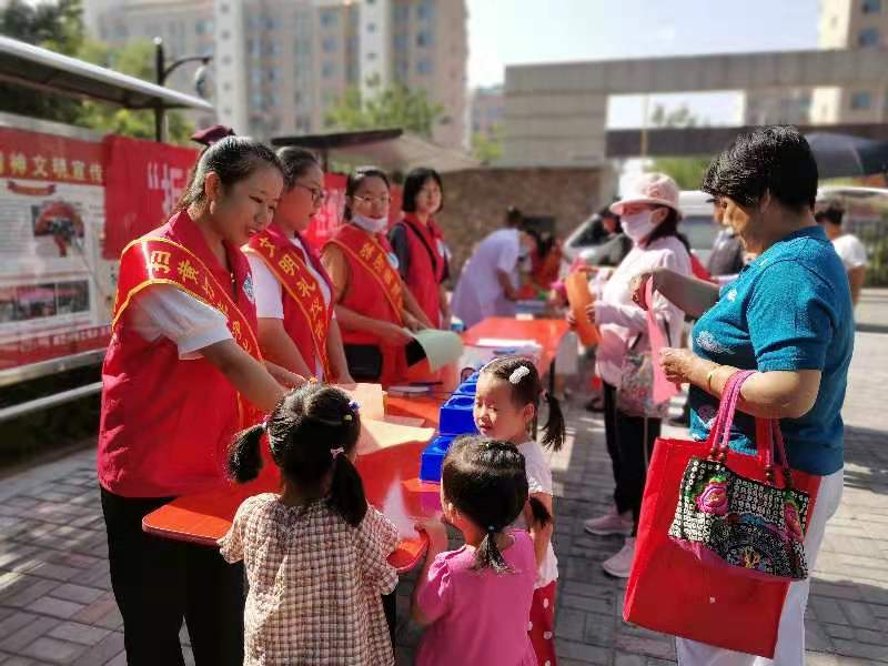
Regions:
<instances>
[{"instance_id":1,"label":"farthest woman in red vest, dark bobbed hair, no sash","mask_svg":"<svg viewBox=\"0 0 888 666\"><path fill-rule=\"evenodd\" d=\"M428 321L450 329L451 313L444 281L450 276L444 236L432 215L443 208L444 186L434 169L418 168L404 181L404 218L392 226L389 241L398 272Z\"/></svg>"}]
</instances>

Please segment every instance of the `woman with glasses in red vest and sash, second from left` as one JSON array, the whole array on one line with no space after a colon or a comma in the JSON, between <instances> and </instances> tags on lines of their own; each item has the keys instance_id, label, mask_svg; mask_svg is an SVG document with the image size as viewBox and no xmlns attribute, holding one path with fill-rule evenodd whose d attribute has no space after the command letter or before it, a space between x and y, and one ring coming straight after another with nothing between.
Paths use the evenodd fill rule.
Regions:
<instances>
[{"instance_id":1,"label":"woman with glasses in red vest and sash, second from left","mask_svg":"<svg viewBox=\"0 0 888 666\"><path fill-rule=\"evenodd\" d=\"M259 345L270 361L304 376L351 384L333 282L302 234L324 201L324 172L302 148L278 151L286 185L269 228L244 251L253 270Z\"/></svg>"}]
</instances>

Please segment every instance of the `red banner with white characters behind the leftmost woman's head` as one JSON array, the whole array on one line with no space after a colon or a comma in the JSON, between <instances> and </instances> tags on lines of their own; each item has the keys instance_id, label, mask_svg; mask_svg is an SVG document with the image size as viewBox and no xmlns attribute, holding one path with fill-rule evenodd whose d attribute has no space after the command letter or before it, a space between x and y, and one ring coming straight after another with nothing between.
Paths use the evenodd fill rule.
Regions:
<instances>
[{"instance_id":1,"label":"red banner with white characters behind the leftmost woman's head","mask_svg":"<svg viewBox=\"0 0 888 666\"><path fill-rule=\"evenodd\" d=\"M128 243L172 214L198 159L191 148L105 137L105 235L102 255L115 260Z\"/></svg>"}]
</instances>

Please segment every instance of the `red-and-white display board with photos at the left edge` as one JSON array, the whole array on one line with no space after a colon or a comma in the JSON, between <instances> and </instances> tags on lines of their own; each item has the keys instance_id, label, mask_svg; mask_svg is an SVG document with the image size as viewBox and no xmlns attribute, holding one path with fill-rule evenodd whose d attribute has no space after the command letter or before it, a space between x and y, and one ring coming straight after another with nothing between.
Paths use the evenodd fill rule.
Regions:
<instances>
[{"instance_id":1,"label":"red-and-white display board with photos at the left edge","mask_svg":"<svg viewBox=\"0 0 888 666\"><path fill-rule=\"evenodd\" d=\"M0 128L0 371L103 349L99 143Z\"/></svg>"}]
</instances>

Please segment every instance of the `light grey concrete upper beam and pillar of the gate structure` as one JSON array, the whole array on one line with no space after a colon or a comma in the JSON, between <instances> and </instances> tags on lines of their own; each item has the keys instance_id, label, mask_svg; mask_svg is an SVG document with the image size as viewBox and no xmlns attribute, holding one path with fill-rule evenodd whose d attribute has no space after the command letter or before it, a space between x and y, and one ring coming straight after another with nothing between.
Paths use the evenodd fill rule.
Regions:
<instances>
[{"instance_id":1,"label":"light grey concrete upper beam and pillar of the gate structure","mask_svg":"<svg viewBox=\"0 0 888 666\"><path fill-rule=\"evenodd\" d=\"M508 67L502 163L601 164L612 94L879 85L885 60L859 49Z\"/></svg>"}]
</instances>

